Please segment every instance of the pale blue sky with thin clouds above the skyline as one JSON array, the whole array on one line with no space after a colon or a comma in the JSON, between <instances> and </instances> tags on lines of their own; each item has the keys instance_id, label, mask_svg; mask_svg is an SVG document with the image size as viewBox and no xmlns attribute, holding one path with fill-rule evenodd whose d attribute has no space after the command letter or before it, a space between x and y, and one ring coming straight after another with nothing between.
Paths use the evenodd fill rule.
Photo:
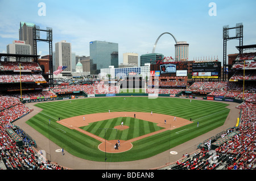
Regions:
<instances>
[{"instance_id":1,"label":"pale blue sky with thin clouds above the skyline","mask_svg":"<svg viewBox=\"0 0 256 181\"><path fill-rule=\"evenodd\" d=\"M256 44L255 0L0 0L0 53L19 39L19 23L51 27L55 43L66 40L72 52L90 56L90 41L118 43L119 64L126 52L152 53L156 39L169 32L189 44L189 60L223 59L223 26L243 24L243 45ZM229 32L235 36L235 31ZM42 37L45 37L41 33ZM155 53L175 57L175 41L160 37ZM227 54L238 53L239 40L227 43ZM38 54L49 54L38 42Z\"/></svg>"}]
</instances>

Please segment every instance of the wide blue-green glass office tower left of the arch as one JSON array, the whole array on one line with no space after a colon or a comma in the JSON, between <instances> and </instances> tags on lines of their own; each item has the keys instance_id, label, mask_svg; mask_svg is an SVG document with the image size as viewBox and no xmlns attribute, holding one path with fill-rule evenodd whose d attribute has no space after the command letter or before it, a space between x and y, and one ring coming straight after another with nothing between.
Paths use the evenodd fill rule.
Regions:
<instances>
[{"instance_id":1,"label":"wide blue-green glass office tower left of the arch","mask_svg":"<svg viewBox=\"0 0 256 181\"><path fill-rule=\"evenodd\" d=\"M106 41L90 42L90 60L93 64L90 74L99 74L101 69L113 65L118 68L118 43Z\"/></svg>"}]
</instances>

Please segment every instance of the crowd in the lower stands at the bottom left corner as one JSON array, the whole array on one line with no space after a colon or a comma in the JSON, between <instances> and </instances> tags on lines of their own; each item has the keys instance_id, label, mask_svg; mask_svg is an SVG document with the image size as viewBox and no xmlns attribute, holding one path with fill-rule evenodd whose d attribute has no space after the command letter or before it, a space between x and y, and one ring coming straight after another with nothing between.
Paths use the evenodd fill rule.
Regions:
<instances>
[{"instance_id":1,"label":"crowd in the lower stands at the bottom left corner","mask_svg":"<svg viewBox=\"0 0 256 181\"><path fill-rule=\"evenodd\" d=\"M22 129L10 122L24 114L31 112L30 108L19 102L18 98L9 95L0 95L0 162L7 170L61 170L63 167L48 162L33 146L35 141ZM19 146L6 132L13 129L20 138L23 146Z\"/></svg>"}]
</instances>

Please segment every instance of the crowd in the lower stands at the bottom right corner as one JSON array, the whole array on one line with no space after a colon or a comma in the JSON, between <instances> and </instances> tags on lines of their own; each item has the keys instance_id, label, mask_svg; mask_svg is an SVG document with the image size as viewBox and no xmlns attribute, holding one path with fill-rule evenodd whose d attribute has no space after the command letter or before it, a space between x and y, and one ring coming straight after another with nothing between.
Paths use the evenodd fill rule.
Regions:
<instances>
[{"instance_id":1,"label":"crowd in the lower stands at the bottom right corner","mask_svg":"<svg viewBox=\"0 0 256 181\"><path fill-rule=\"evenodd\" d=\"M238 127L230 128L221 134L220 138L233 131L238 131L233 137L215 149L212 142L201 146L192 155L186 154L171 166L172 170L248 170L256 169L256 104L243 102L237 108L241 109L241 120Z\"/></svg>"}]
</instances>

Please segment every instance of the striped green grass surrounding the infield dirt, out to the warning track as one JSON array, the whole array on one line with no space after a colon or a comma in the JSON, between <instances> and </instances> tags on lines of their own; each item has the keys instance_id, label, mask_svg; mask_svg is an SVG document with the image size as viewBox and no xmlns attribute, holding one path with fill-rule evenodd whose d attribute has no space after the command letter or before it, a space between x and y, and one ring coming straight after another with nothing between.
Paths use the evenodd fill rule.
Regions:
<instances>
[{"instance_id":1,"label":"striped green grass surrounding the infield dirt, out to the warning track","mask_svg":"<svg viewBox=\"0 0 256 181\"><path fill-rule=\"evenodd\" d=\"M107 162L121 162L151 157L209 132L223 125L229 113L229 109L225 108L228 104L225 103L201 100L192 100L190 102L189 99L179 98L148 99L147 97L130 96L126 97L125 100L123 97L110 97L73 99L72 103L69 102L70 100L38 103L36 106L43 108L43 111L26 123L69 153L80 158L102 162L105 161L105 153L98 150L100 141L55 123L57 119L59 117L65 119L90 113L108 112L108 110L112 112L153 111L154 113L182 117L188 120L190 118L193 119L194 123L192 124L135 141L133 142L133 149L124 153L107 153ZM48 124L49 119L51 119L51 124ZM198 128L196 127L197 121L200 124ZM104 125L110 122L106 121L105 123L103 121L101 123ZM93 124L90 126L92 127ZM83 129L89 129L89 127ZM109 135L109 140L112 139L114 138L111 138L111 135Z\"/></svg>"}]
</instances>

